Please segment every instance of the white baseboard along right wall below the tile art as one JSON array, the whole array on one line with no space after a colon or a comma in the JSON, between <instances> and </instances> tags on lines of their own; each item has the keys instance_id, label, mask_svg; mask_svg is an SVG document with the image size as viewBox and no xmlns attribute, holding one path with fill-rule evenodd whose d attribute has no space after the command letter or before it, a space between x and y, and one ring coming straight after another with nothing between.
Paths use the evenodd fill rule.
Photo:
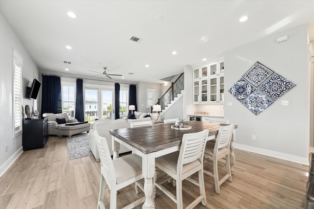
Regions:
<instances>
[{"instance_id":1,"label":"white baseboard along right wall below the tile art","mask_svg":"<svg viewBox=\"0 0 314 209\"><path fill-rule=\"evenodd\" d=\"M235 148L242 149L242 150L249 151L249 152L262 154L262 155L266 155L266 156L270 156L270 157L274 157L274 158L279 158L279 159L286 160L286 161L291 161L294 163L301 163L301 164L305 164L305 165L309 164L309 159L307 157L302 158L302 157L295 156L295 155L289 155L286 153L271 151L268 149L262 149L262 148L238 144L238 143L235 143ZM236 156L235 156L235 159L236 159Z\"/></svg>"}]
</instances>

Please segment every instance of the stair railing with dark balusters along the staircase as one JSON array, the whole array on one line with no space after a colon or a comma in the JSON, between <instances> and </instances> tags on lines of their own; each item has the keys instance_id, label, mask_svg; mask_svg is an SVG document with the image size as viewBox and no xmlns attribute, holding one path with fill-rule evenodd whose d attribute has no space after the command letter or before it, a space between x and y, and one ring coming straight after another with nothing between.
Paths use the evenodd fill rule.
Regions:
<instances>
[{"instance_id":1,"label":"stair railing with dark balusters along the staircase","mask_svg":"<svg viewBox=\"0 0 314 209\"><path fill-rule=\"evenodd\" d=\"M168 104L171 103L171 100L174 100L174 97L177 97L178 93L181 93L181 90L184 89L184 73L181 73L180 76L174 81L171 82L171 86L167 91L162 94L158 99L157 105L161 106L161 110L164 110ZM153 108L153 107L152 107ZM151 108L151 111L153 110Z\"/></svg>"}]
</instances>

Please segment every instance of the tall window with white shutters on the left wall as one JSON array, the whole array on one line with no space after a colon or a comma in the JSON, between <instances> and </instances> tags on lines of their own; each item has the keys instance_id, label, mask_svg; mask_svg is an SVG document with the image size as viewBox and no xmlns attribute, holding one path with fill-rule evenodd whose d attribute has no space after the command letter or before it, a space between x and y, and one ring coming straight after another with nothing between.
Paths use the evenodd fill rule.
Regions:
<instances>
[{"instance_id":1,"label":"tall window with white shutters on the left wall","mask_svg":"<svg viewBox=\"0 0 314 209\"><path fill-rule=\"evenodd\" d=\"M13 49L13 138L22 133L22 66L23 57Z\"/></svg>"}]
</instances>

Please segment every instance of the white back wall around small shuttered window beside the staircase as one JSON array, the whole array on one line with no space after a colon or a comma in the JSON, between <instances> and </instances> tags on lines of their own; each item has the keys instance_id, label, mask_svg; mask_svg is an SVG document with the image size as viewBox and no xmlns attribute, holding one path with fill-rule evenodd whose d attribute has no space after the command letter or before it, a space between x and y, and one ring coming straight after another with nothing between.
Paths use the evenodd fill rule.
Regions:
<instances>
[{"instance_id":1,"label":"white back wall around small shuttered window beside the staircase","mask_svg":"<svg viewBox=\"0 0 314 209\"><path fill-rule=\"evenodd\" d=\"M138 112L144 112L144 113L150 113L151 109L146 108L147 104L147 89L155 89L155 102L157 103L158 98L160 98L160 84L157 83L147 83L147 82L138 82L137 88L136 88L136 94L137 94L137 111Z\"/></svg>"}]
</instances>

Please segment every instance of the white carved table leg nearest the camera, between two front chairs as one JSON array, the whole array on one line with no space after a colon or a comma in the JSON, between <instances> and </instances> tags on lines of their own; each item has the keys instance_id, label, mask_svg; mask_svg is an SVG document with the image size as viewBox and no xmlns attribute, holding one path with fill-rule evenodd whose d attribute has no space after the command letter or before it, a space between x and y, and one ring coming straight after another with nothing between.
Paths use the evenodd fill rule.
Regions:
<instances>
[{"instance_id":1,"label":"white carved table leg nearest the camera, between two front chairs","mask_svg":"<svg viewBox=\"0 0 314 209\"><path fill-rule=\"evenodd\" d=\"M144 176L144 193L145 202L143 209L155 209L155 201L153 198L153 177L155 175L155 153L143 156L143 176Z\"/></svg>"}]
</instances>

